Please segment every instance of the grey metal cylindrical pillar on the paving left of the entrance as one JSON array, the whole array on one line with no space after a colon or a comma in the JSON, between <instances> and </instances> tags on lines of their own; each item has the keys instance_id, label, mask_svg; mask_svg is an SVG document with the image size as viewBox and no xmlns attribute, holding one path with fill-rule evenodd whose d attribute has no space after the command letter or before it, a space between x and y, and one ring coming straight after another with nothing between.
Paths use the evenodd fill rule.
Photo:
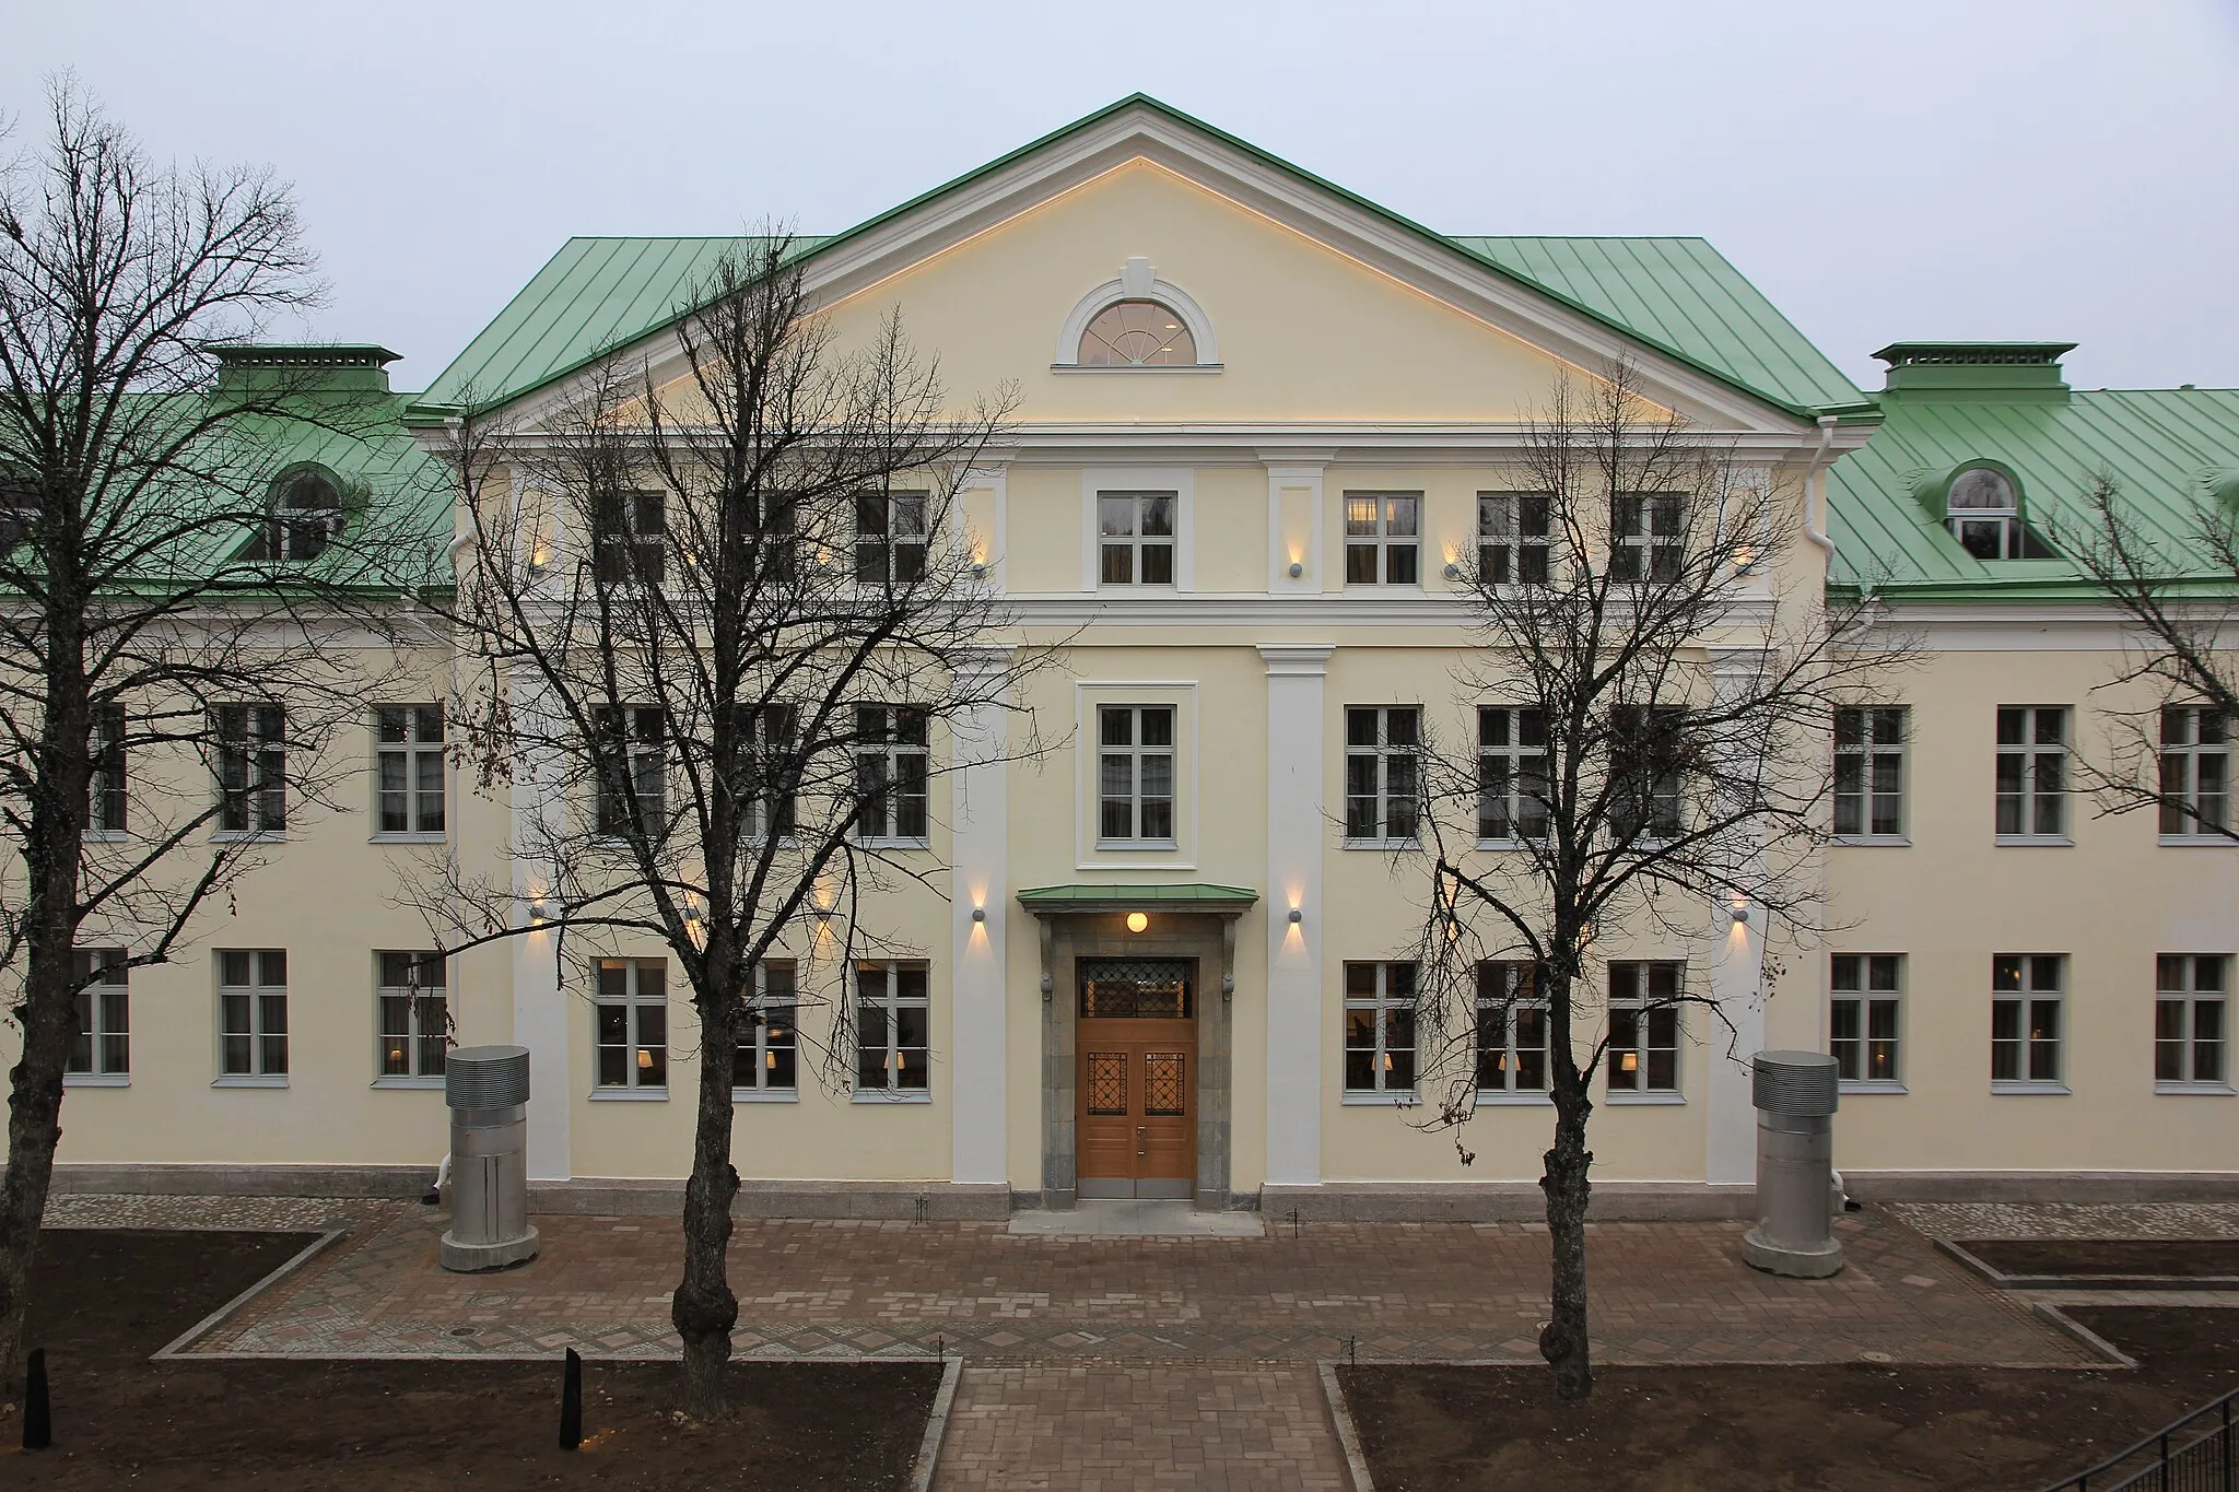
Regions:
<instances>
[{"instance_id":1,"label":"grey metal cylindrical pillar on the paving left of the entrance","mask_svg":"<svg viewBox=\"0 0 2239 1492\"><path fill-rule=\"evenodd\" d=\"M450 1105L450 1233L443 1268L477 1273L537 1257L528 1226L528 1047L459 1047Z\"/></svg>"}]
</instances>

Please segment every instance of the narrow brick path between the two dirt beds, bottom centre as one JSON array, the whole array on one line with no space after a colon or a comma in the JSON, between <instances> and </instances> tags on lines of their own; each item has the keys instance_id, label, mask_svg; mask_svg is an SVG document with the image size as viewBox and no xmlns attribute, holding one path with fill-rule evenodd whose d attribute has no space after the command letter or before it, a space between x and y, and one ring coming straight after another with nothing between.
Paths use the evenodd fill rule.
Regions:
<instances>
[{"instance_id":1,"label":"narrow brick path between the two dirt beds, bottom centre","mask_svg":"<svg viewBox=\"0 0 2239 1492\"><path fill-rule=\"evenodd\" d=\"M934 1492L1343 1492L1312 1367L965 1367Z\"/></svg>"}]
</instances>

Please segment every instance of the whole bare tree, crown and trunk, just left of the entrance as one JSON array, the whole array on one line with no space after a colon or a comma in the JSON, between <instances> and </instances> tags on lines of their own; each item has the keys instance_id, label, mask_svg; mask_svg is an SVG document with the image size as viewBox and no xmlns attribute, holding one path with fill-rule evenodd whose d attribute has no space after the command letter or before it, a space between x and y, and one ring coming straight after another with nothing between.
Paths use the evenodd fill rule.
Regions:
<instances>
[{"instance_id":1,"label":"whole bare tree, crown and trunk, just left of the entrance","mask_svg":"<svg viewBox=\"0 0 2239 1492\"><path fill-rule=\"evenodd\" d=\"M1010 709L1028 658L990 646L1005 615L958 503L1008 400L952 412L898 320L844 349L781 235L685 304L665 362L605 360L537 429L452 425L479 680L457 709L484 774L544 810L506 881L452 868L423 904L450 948L517 937L526 875L564 982L629 939L681 971L699 1098L672 1320L685 1411L714 1418L737 1049L815 1000L755 971L808 948L837 982L826 1076L925 1083L920 1031L858 1020L853 953L893 951L864 893L938 893L931 787L987 758L974 716Z\"/></svg>"}]
</instances>

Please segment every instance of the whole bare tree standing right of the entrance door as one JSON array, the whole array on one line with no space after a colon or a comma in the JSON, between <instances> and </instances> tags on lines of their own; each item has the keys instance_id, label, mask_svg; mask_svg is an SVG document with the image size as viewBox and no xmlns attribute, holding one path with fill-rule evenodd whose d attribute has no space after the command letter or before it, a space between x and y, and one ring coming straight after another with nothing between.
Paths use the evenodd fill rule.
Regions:
<instances>
[{"instance_id":1,"label":"whole bare tree standing right of the entrance door","mask_svg":"<svg viewBox=\"0 0 2239 1492\"><path fill-rule=\"evenodd\" d=\"M1464 566L1482 646L1458 682L1482 738L1420 747L1431 897L1413 1018L1433 1127L1471 1116L1509 1022L1534 1054L1543 1024L1540 1356L1558 1396L1583 1398L1587 1087L1603 1060L1641 1074L1688 1007L1731 1047L1720 1004L1684 982L1605 1004L1596 944L1708 931L1717 946L1733 910L1809 931L1832 711L1892 653L1861 651L1861 613L1829 611L1818 568L1796 564L1798 506L1648 403L1632 367L1558 383L1518 465L1514 494L1480 499L1487 539Z\"/></svg>"}]
</instances>

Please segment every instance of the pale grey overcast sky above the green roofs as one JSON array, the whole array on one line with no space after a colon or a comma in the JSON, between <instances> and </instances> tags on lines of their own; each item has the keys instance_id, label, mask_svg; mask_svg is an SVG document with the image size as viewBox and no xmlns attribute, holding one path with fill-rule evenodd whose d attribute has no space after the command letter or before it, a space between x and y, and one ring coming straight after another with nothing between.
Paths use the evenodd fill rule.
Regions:
<instances>
[{"instance_id":1,"label":"pale grey overcast sky above the green roofs","mask_svg":"<svg viewBox=\"0 0 2239 1492\"><path fill-rule=\"evenodd\" d=\"M58 67L293 179L307 331L399 387L571 233L837 230L1135 89L1449 233L1699 233L1863 387L1899 338L2239 385L2239 0L0 0L20 130Z\"/></svg>"}]
</instances>

